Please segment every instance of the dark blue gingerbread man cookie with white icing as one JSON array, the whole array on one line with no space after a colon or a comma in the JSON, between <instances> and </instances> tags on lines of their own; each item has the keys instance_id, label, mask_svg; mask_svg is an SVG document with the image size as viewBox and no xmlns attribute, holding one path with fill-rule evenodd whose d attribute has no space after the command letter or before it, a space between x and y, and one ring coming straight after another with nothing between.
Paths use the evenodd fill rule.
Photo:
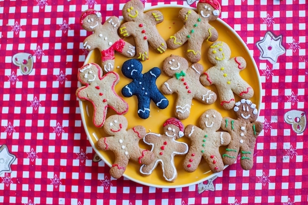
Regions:
<instances>
[{"instance_id":1,"label":"dark blue gingerbread man cookie with white icing","mask_svg":"<svg viewBox=\"0 0 308 205\"><path fill-rule=\"evenodd\" d=\"M160 75L160 69L154 67L144 74L141 71L142 64L137 59L129 59L123 63L122 72L124 76L133 81L122 88L122 94L125 97L137 96L138 116L146 119L150 116L151 99L160 109L165 109L169 101L156 86L156 79Z\"/></svg>"}]
</instances>

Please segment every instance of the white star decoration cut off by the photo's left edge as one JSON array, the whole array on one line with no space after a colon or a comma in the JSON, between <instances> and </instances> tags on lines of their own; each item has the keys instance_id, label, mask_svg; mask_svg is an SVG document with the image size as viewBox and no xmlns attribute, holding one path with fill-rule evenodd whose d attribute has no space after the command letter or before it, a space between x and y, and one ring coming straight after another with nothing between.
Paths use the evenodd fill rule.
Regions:
<instances>
[{"instance_id":1,"label":"white star decoration cut off by the photo's left edge","mask_svg":"<svg viewBox=\"0 0 308 205\"><path fill-rule=\"evenodd\" d=\"M11 165L15 161L16 156L8 151L6 145L0 146L0 175L4 172L11 173Z\"/></svg>"}]
</instances>

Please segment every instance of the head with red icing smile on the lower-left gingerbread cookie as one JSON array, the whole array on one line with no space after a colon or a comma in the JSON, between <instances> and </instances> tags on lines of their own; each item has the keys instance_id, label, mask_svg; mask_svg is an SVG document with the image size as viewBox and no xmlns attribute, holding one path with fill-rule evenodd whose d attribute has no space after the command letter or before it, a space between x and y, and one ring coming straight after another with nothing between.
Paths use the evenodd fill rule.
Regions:
<instances>
[{"instance_id":1,"label":"head with red icing smile on the lower-left gingerbread cookie","mask_svg":"<svg viewBox=\"0 0 308 205\"><path fill-rule=\"evenodd\" d=\"M113 115L106 119L104 130L108 135L116 135L126 130L128 126L127 119L121 115Z\"/></svg>"}]
</instances>

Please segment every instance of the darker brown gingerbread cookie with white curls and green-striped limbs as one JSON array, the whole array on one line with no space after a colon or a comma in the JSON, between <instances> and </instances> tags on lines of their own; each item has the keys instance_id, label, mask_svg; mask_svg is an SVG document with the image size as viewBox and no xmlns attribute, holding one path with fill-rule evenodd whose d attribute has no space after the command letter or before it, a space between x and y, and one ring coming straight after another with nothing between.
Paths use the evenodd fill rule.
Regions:
<instances>
[{"instance_id":1,"label":"darker brown gingerbread cookie with white curls and green-striped limbs","mask_svg":"<svg viewBox=\"0 0 308 205\"><path fill-rule=\"evenodd\" d=\"M256 121L258 110L250 100L242 99L235 103L234 111L237 119L224 117L221 129L231 135L231 142L222 155L223 163L233 164L240 153L241 166L250 170L253 166L253 151L256 139L263 129L263 123Z\"/></svg>"}]
</instances>

